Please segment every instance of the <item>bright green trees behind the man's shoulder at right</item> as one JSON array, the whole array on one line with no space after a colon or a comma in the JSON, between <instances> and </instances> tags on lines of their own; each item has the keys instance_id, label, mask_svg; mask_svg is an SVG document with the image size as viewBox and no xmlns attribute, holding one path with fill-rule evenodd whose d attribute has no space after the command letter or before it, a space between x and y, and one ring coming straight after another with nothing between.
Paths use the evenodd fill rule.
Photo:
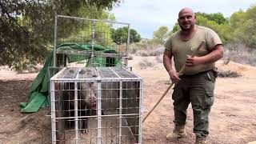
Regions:
<instances>
[{"instance_id":1,"label":"bright green trees behind the man's shoulder at right","mask_svg":"<svg viewBox=\"0 0 256 144\"><path fill-rule=\"evenodd\" d=\"M197 25L206 26L214 30L222 42L244 43L246 46L256 48L256 6L251 6L248 10L239 10L225 18L221 13L206 14L195 13ZM176 22L172 32L180 30Z\"/></svg>"}]
</instances>

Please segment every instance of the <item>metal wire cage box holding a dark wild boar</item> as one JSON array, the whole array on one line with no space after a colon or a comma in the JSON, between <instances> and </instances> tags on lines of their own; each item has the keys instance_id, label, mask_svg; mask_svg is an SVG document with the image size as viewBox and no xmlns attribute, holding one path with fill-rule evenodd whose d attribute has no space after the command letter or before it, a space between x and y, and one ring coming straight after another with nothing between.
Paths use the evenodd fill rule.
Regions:
<instances>
[{"instance_id":1,"label":"metal wire cage box holding a dark wild boar","mask_svg":"<svg viewBox=\"0 0 256 144\"><path fill-rule=\"evenodd\" d=\"M142 143L142 78L121 67L64 68L50 79L53 143Z\"/></svg>"}]
</instances>

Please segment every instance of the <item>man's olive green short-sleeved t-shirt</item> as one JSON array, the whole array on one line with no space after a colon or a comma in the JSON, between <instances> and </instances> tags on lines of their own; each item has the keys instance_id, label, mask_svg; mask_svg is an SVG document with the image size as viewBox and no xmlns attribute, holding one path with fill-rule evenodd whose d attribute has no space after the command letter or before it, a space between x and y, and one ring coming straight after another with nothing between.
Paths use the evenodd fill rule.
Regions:
<instances>
[{"instance_id":1,"label":"man's olive green short-sleeved t-shirt","mask_svg":"<svg viewBox=\"0 0 256 144\"><path fill-rule=\"evenodd\" d=\"M178 30L176 33L167 39L164 44L166 50L171 51L174 56L174 66L176 71L182 69L182 66L186 63L186 55L193 54L193 51L199 46L202 40L205 40L206 43L198 50L196 56L201 57L210 53L210 50L218 45L222 44L221 39L218 37L218 34L214 30L209 28L198 26L197 31L195 32L193 38L189 40L182 40L180 38L181 30ZM198 74L202 71L211 70L214 68L214 63L208 63L198 66L186 67L183 74Z\"/></svg>"}]
</instances>

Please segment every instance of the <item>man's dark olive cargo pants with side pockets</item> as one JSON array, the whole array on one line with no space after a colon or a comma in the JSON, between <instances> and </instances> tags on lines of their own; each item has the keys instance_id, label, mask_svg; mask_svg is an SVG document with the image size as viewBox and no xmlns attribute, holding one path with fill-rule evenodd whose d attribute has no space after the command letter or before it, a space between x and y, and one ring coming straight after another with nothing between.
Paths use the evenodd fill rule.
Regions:
<instances>
[{"instance_id":1,"label":"man's dark olive cargo pants with side pockets","mask_svg":"<svg viewBox=\"0 0 256 144\"><path fill-rule=\"evenodd\" d=\"M180 82L174 86L174 124L186 124L186 109L191 102L194 115L194 133L198 138L209 134L209 113L214 103L213 70L194 75L182 75Z\"/></svg>"}]
</instances>

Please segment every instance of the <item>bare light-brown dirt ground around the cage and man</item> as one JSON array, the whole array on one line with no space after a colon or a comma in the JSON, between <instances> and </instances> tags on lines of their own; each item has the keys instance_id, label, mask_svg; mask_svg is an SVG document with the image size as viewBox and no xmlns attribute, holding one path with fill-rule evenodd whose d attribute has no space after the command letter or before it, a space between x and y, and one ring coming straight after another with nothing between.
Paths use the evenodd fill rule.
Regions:
<instances>
[{"instance_id":1,"label":"bare light-brown dirt ground around the cage and man","mask_svg":"<svg viewBox=\"0 0 256 144\"><path fill-rule=\"evenodd\" d=\"M142 58L134 56L130 61L133 71L143 78L143 106L150 110L168 86L168 75L162 63L154 57L153 67L141 70L138 62ZM256 68L230 62L227 66L218 62L218 68L235 70L242 74L238 78L218 78L215 90L215 102L210 113L210 134L208 143L242 144L256 141ZM19 102L27 102L27 92L34 74L16 74L11 70L0 70L0 143L50 143L50 117L48 109L38 113L22 114ZM193 114L188 109L187 137L167 141L165 136L173 128L173 106L170 94L143 123L143 143L193 143Z\"/></svg>"}]
</instances>

